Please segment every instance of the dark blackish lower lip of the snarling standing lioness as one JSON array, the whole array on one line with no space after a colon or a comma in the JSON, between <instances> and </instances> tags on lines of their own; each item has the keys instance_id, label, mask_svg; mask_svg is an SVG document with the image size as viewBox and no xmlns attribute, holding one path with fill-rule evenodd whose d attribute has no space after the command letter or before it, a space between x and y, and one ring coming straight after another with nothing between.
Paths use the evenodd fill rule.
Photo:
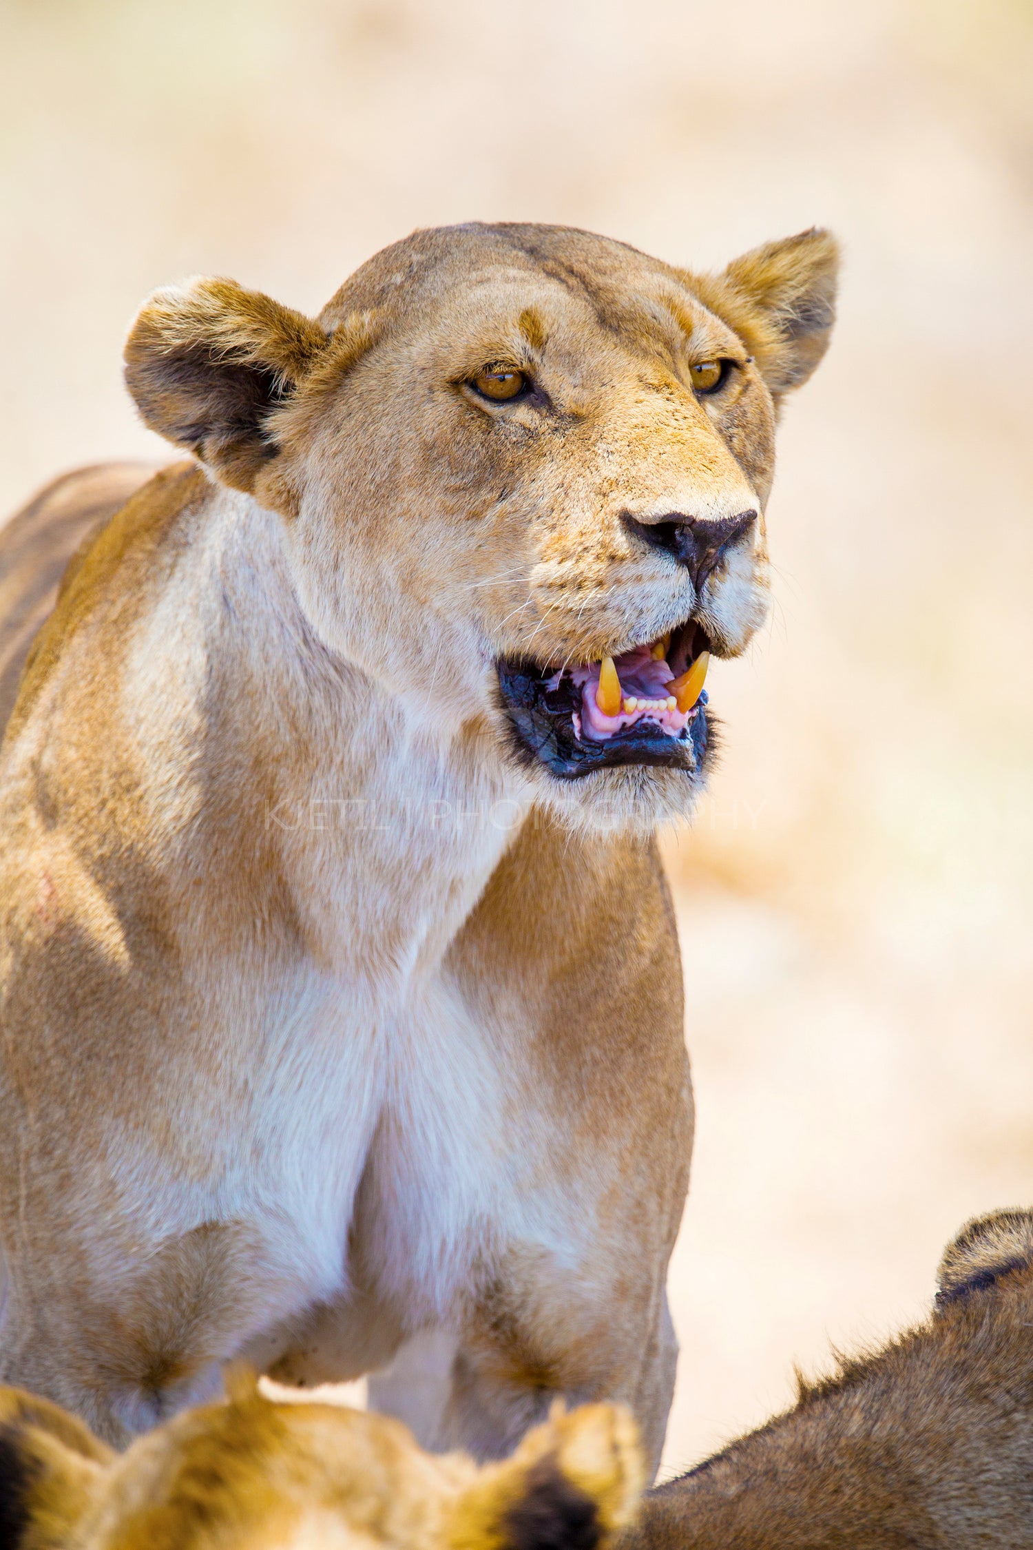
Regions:
<instances>
[{"instance_id":1,"label":"dark blackish lower lip of the snarling standing lioness","mask_svg":"<svg viewBox=\"0 0 1033 1550\"><path fill-rule=\"evenodd\" d=\"M618 732L606 742L582 742L575 735L571 711L578 708L571 684L547 693L545 679L530 662L503 659L497 663L502 705L513 727L517 755L531 763L539 760L559 780L579 780L593 770L621 764L652 764L683 770L702 778L711 749L706 716L706 693L698 711L678 738L669 738L660 727L638 722Z\"/></svg>"}]
</instances>

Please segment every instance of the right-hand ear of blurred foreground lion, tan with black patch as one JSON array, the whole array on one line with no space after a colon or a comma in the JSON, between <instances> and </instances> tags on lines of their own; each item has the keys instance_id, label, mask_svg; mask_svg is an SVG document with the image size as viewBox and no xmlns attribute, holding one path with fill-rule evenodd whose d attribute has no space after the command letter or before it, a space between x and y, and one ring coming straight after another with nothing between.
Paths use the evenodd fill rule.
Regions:
<instances>
[{"instance_id":1,"label":"right-hand ear of blurred foreground lion, tan with black patch","mask_svg":"<svg viewBox=\"0 0 1033 1550\"><path fill-rule=\"evenodd\" d=\"M623 1406L556 1415L460 1496L449 1550L596 1550L630 1524L644 1476L638 1431Z\"/></svg>"}]
</instances>

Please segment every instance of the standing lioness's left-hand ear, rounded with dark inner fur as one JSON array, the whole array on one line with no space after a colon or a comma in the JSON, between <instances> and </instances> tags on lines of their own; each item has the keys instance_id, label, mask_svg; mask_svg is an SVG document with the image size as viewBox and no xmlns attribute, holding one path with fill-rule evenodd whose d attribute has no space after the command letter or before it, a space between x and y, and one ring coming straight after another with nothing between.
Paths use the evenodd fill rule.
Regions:
<instances>
[{"instance_id":1,"label":"standing lioness's left-hand ear, rounded with dark inner fur","mask_svg":"<svg viewBox=\"0 0 1033 1550\"><path fill-rule=\"evenodd\" d=\"M195 279L144 302L125 341L125 383L152 431L251 491L279 451L273 411L327 344L317 322L260 291Z\"/></svg>"}]
</instances>

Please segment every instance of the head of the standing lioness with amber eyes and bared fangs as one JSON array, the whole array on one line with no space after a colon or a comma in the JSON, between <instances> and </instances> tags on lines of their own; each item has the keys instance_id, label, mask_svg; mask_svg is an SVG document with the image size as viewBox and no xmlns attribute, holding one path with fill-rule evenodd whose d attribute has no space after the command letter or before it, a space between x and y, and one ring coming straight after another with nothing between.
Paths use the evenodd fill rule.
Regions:
<instances>
[{"instance_id":1,"label":"head of the standing lioness with amber eyes and bared fangs","mask_svg":"<svg viewBox=\"0 0 1033 1550\"><path fill-rule=\"evenodd\" d=\"M765 617L774 422L821 360L824 231L692 276L561 226L420 231L316 321L198 279L127 344L146 422L282 513L335 653L534 800L652 825L703 679Z\"/></svg>"}]
</instances>

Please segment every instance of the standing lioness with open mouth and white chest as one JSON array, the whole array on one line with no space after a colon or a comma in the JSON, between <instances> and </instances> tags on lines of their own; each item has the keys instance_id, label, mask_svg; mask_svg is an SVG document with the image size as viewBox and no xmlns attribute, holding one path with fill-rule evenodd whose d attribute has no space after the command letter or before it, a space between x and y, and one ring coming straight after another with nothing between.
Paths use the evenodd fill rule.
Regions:
<instances>
[{"instance_id":1,"label":"standing lioness with open mouth and white chest","mask_svg":"<svg viewBox=\"0 0 1033 1550\"><path fill-rule=\"evenodd\" d=\"M197 462L76 555L0 753L6 1380L124 1443L235 1353L404 1392L437 1330L424 1442L615 1398L655 1465L692 1107L650 835L765 612L835 270L471 225L316 321L144 305L130 392Z\"/></svg>"}]
</instances>

